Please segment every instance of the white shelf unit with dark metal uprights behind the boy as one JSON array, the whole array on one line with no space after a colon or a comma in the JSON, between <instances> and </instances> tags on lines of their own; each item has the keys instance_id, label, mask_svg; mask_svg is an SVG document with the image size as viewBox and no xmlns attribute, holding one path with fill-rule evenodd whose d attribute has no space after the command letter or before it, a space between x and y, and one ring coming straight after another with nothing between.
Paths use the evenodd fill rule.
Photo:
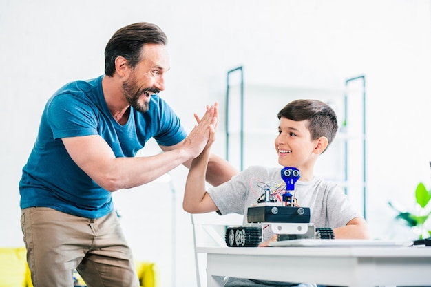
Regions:
<instances>
[{"instance_id":1,"label":"white shelf unit with dark metal uprights behind the boy","mask_svg":"<svg viewBox=\"0 0 431 287\"><path fill-rule=\"evenodd\" d=\"M235 81L233 81L235 80ZM339 121L335 140L317 160L315 175L337 182L366 216L365 76L342 87L292 87L244 83L243 67L227 73L226 159L242 170L251 165L278 167L274 140L277 113L291 100L328 103Z\"/></svg>"}]
</instances>

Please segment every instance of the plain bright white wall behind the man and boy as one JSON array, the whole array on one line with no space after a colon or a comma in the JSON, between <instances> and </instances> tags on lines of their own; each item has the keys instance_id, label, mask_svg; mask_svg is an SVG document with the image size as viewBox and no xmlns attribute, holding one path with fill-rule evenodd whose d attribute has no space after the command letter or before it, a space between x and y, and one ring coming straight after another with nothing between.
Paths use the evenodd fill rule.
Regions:
<instances>
[{"instance_id":1,"label":"plain bright white wall behind the man and boy","mask_svg":"<svg viewBox=\"0 0 431 287\"><path fill-rule=\"evenodd\" d=\"M136 21L156 23L169 37L171 71L161 95L187 129L204 105L218 101L224 110L226 72L238 65L246 81L271 85L339 87L366 74L367 219L375 237L411 237L386 202L412 206L417 183L431 186L430 14L429 0L1 1L0 246L22 244L18 182L45 100L68 81L102 74L108 39ZM262 95L255 105L264 103ZM220 155L223 129L220 123L214 148ZM190 220L181 208L186 174L171 172L174 205L169 184L116 194L136 257L160 263L163 286L195 285Z\"/></svg>"}]
</instances>

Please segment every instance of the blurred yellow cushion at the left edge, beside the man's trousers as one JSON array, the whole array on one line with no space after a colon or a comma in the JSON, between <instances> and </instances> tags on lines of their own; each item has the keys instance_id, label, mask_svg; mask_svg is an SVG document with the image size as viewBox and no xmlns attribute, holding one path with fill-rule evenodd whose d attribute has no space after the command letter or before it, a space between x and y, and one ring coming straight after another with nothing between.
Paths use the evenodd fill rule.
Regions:
<instances>
[{"instance_id":1,"label":"blurred yellow cushion at the left edge, beside the man's trousers","mask_svg":"<svg viewBox=\"0 0 431 287\"><path fill-rule=\"evenodd\" d=\"M32 286L30 270L28 270L27 251L25 247L0 248L0 286L1 287L28 287ZM28 277L27 277L28 276Z\"/></svg>"}]
</instances>

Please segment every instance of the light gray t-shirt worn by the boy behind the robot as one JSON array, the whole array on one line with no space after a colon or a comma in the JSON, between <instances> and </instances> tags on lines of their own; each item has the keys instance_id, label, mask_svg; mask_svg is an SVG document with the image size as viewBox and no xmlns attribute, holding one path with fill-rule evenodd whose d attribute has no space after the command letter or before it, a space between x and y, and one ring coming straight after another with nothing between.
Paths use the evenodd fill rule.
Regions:
<instances>
[{"instance_id":1,"label":"light gray t-shirt worn by the boy behind the robot","mask_svg":"<svg viewBox=\"0 0 431 287\"><path fill-rule=\"evenodd\" d=\"M257 203L257 199L264 193L262 187L286 185L281 178L281 170L282 168L277 167L249 167L229 182L218 187L209 187L207 191L222 215L228 213L246 215L249 206ZM315 177L309 182L302 182L299 178L295 183L295 190L291 193L297 198L299 206L310 208L310 222L316 227L337 228L345 226L355 217L361 217L341 187L322 178ZM246 224L248 222L244 216L244 225ZM273 235L270 228L265 228L263 240L270 240ZM225 286L289 286L289 283L229 278Z\"/></svg>"}]
</instances>

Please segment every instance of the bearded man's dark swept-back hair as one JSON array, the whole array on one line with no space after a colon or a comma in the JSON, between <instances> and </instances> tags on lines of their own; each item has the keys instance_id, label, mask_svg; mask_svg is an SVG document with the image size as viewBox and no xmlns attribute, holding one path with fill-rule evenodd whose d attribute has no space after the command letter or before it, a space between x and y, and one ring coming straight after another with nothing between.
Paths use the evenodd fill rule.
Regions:
<instances>
[{"instance_id":1,"label":"bearded man's dark swept-back hair","mask_svg":"<svg viewBox=\"0 0 431 287\"><path fill-rule=\"evenodd\" d=\"M114 76L118 56L123 56L130 67L135 67L141 60L140 52L145 44L167 45L167 36L151 23L140 22L120 28L105 47L105 74Z\"/></svg>"}]
</instances>

